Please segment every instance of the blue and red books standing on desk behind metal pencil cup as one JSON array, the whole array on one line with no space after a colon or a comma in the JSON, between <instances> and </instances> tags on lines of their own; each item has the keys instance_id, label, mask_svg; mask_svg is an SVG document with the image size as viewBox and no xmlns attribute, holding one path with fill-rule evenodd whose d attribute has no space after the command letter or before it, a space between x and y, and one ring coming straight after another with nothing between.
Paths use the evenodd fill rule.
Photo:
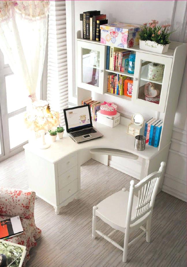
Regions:
<instances>
[{"instance_id":1,"label":"blue and red books standing on desk behind metal pencil cup","mask_svg":"<svg viewBox=\"0 0 187 267\"><path fill-rule=\"evenodd\" d=\"M145 123L144 136L146 137L146 144L150 146L158 147L160 142L160 134L162 131L161 119L151 118Z\"/></svg>"}]
</instances>

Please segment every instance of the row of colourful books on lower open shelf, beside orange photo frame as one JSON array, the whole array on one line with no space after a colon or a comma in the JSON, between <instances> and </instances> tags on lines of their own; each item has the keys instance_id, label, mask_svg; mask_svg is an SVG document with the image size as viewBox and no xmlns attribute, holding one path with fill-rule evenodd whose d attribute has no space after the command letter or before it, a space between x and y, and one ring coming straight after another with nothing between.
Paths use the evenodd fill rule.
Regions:
<instances>
[{"instance_id":1,"label":"row of colourful books on lower open shelf, beside orange photo frame","mask_svg":"<svg viewBox=\"0 0 187 267\"><path fill-rule=\"evenodd\" d=\"M109 74L107 80L107 92L116 95L124 95L124 81L130 77L121 74Z\"/></svg>"}]
</instances>

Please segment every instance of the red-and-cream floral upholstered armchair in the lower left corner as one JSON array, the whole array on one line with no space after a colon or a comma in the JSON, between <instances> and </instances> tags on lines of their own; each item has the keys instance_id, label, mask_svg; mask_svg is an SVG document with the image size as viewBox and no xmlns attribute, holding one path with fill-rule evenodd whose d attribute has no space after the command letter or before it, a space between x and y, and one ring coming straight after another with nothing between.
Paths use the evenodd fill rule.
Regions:
<instances>
[{"instance_id":1,"label":"red-and-cream floral upholstered armchair in the lower left corner","mask_svg":"<svg viewBox=\"0 0 187 267\"><path fill-rule=\"evenodd\" d=\"M35 240L41 235L41 230L34 222L34 201L35 192L0 188L0 221L19 215L23 226L23 234L7 239L9 242L27 247L22 266L29 260L29 250L37 245Z\"/></svg>"}]
</instances>

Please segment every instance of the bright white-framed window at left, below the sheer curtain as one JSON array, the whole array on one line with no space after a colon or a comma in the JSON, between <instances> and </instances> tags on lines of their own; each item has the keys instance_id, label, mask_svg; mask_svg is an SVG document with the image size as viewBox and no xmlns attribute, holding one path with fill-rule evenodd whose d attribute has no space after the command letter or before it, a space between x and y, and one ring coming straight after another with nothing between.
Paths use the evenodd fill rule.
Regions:
<instances>
[{"instance_id":1,"label":"bright white-framed window at left, below the sheer curtain","mask_svg":"<svg viewBox=\"0 0 187 267\"><path fill-rule=\"evenodd\" d=\"M37 88L38 99L41 93L40 87ZM23 120L27 101L27 91L0 50L0 161L20 152L27 143Z\"/></svg>"}]
</instances>

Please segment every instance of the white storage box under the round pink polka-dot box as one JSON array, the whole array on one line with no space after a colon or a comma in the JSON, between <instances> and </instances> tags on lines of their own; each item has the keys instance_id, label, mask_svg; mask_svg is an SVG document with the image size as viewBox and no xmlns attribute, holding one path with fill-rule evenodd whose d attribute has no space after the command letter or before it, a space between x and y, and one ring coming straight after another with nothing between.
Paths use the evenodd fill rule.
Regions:
<instances>
[{"instance_id":1,"label":"white storage box under the round pink polka-dot box","mask_svg":"<svg viewBox=\"0 0 187 267\"><path fill-rule=\"evenodd\" d=\"M116 115L109 116L101 114L99 110L97 112L97 122L113 128L120 123L120 114L117 112Z\"/></svg>"}]
</instances>

